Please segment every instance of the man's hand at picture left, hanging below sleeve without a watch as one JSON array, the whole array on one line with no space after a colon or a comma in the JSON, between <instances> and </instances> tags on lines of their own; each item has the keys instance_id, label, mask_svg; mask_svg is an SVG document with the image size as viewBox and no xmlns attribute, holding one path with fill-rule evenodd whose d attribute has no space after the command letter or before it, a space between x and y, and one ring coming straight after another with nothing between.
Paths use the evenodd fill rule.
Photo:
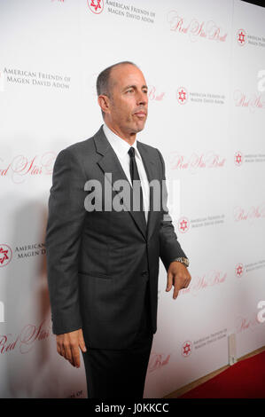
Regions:
<instances>
[{"instance_id":1,"label":"man's hand at picture left, hanging below sleeve without a watch","mask_svg":"<svg viewBox=\"0 0 265 417\"><path fill-rule=\"evenodd\" d=\"M69 332L65 334L57 334L57 351L58 354L69 360L70 364L80 367L80 352L86 352L85 342L83 340L82 328L74 330L74 332Z\"/></svg>"}]
</instances>

